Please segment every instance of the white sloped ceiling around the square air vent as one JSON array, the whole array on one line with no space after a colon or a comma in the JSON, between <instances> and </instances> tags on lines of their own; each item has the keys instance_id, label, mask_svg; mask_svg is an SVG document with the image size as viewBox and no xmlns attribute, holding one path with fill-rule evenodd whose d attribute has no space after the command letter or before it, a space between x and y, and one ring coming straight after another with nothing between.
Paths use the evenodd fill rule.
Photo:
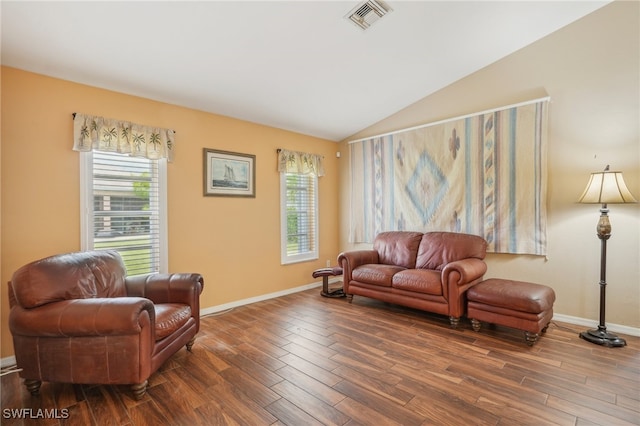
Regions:
<instances>
[{"instance_id":1,"label":"white sloped ceiling around the square air vent","mask_svg":"<svg viewBox=\"0 0 640 426\"><path fill-rule=\"evenodd\" d=\"M2 64L338 141L608 1L358 3L3 0Z\"/></svg>"}]
</instances>

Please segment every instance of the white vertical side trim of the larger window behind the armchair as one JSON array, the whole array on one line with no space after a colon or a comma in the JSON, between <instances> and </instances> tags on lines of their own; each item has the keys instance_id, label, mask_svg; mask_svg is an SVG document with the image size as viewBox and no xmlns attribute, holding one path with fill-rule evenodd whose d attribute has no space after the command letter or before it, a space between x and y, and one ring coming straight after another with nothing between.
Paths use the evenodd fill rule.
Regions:
<instances>
[{"instance_id":1,"label":"white vertical side trim of the larger window behind the armchair","mask_svg":"<svg viewBox=\"0 0 640 426\"><path fill-rule=\"evenodd\" d=\"M94 249L93 229L93 151L80 152L80 249L83 251ZM169 226L168 226L168 185L167 185L167 160L162 158L156 161L158 166L158 190L160 219L159 229L159 273L169 271Z\"/></svg>"}]
</instances>

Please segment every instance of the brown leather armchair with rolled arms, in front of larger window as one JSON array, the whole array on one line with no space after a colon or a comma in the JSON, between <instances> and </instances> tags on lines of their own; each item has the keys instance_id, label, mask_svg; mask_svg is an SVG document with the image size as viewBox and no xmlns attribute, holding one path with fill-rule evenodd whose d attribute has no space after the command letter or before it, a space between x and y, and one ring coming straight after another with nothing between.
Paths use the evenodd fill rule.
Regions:
<instances>
[{"instance_id":1,"label":"brown leather armchair with rolled arms, in front of larger window","mask_svg":"<svg viewBox=\"0 0 640 426\"><path fill-rule=\"evenodd\" d=\"M148 378L200 328L200 274L127 277L116 251L60 254L9 282L9 329L31 394L42 381L130 384Z\"/></svg>"}]
</instances>

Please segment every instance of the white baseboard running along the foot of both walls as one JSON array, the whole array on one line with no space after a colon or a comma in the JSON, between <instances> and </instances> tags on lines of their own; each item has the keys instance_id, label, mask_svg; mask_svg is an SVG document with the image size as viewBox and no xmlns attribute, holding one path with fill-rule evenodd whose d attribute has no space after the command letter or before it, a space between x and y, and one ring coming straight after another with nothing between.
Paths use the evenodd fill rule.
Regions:
<instances>
[{"instance_id":1,"label":"white baseboard running along the foot of both walls","mask_svg":"<svg viewBox=\"0 0 640 426\"><path fill-rule=\"evenodd\" d=\"M330 283L337 282L339 279L329 280ZM298 293L300 291L309 290L312 288L322 286L321 282L315 282L311 284L305 284L299 287L289 288L287 290L276 291L274 293L263 294L261 296L250 297L248 299L236 300L235 302L224 303L222 305L211 306L208 308L200 309L200 316L206 316L211 314L216 314L224 311L228 311L233 308L237 308L243 305L249 305L251 303L261 302L263 300L275 299L276 297L286 296L287 294ZM596 328L598 326L598 322L586 318L572 317L570 315L562 315L562 314L553 314L553 319L566 322L574 325L581 325L589 328ZM607 323L607 330L613 331L614 333L626 334L628 336L640 336L640 328L637 327L629 327L626 325L619 324L610 324ZM6 358L0 359L0 367L6 368L16 364L16 357L9 356Z\"/></svg>"}]
</instances>

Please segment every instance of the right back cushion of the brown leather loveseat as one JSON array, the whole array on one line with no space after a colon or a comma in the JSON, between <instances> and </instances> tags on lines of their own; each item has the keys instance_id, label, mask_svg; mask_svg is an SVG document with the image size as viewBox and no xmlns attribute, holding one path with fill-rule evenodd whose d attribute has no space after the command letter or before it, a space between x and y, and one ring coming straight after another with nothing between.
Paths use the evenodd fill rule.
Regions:
<instances>
[{"instance_id":1,"label":"right back cushion of the brown leather loveseat","mask_svg":"<svg viewBox=\"0 0 640 426\"><path fill-rule=\"evenodd\" d=\"M447 263L475 257L484 259L487 242L477 235L428 232L422 236L416 268L441 271Z\"/></svg>"}]
</instances>

